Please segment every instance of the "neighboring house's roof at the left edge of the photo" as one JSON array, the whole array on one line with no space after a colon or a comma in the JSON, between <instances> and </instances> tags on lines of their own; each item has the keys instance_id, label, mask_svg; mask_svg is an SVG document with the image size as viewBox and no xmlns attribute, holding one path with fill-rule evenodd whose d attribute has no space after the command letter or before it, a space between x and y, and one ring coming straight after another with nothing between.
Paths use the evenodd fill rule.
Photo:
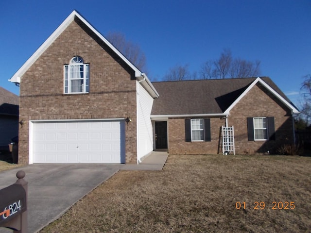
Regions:
<instances>
[{"instance_id":1,"label":"neighboring house's roof at the left edge of the photo","mask_svg":"<svg viewBox=\"0 0 311 233\"><path fill-rule=\"evenodd\" d=\"M19 97L0 87L0 115L18 116Z\"/></svg>"}]
</instances>

